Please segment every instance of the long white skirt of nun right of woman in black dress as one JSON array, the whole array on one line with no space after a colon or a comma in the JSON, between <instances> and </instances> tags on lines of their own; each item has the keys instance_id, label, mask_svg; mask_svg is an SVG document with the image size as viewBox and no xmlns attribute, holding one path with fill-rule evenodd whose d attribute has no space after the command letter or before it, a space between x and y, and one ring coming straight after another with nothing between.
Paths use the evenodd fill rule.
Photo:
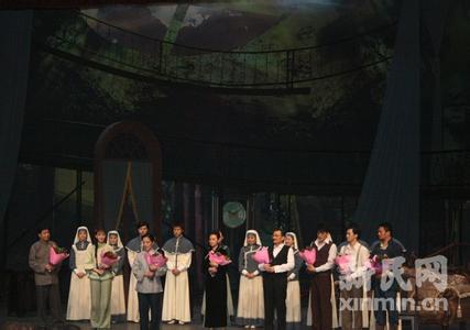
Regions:
<instances>
[{"instance_id":1,"label":"long white skirt of nun right of woman in black dress","mask_svg":"<svg viewBox=\"0 0 470 330\"><path fill-rule=\"evenodd\" d=\"M237 323L239 326L259 326L264 320L263 277L240 276Z\"/></svg>"}]
</instances>

